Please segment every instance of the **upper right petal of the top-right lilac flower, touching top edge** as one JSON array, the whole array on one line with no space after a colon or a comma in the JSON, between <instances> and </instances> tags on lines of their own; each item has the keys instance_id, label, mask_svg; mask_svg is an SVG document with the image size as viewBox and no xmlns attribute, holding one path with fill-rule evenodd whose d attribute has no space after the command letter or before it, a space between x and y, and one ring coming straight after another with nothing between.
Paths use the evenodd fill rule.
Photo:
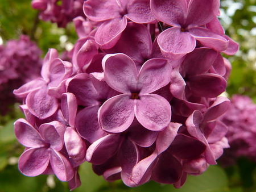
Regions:
<instances>
[{"instance_id":1,"label":"upper right petal of the top-right lilac flower, touching top edge","mask_svg":"<svg viewBox=\"0 0 256 192\"><path fill-rule=\"evenodd\" d=\"M201 26L209 23L216 15L220 7L219 0L191 0L188 4L187 25Z\"/></svg>"}]
</instances>

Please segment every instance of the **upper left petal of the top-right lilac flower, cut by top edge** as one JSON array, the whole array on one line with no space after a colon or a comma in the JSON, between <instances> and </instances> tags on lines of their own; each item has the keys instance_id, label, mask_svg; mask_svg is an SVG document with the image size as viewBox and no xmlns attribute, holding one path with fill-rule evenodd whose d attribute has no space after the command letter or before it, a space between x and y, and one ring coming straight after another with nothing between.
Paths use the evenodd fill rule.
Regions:
<instances>
[{"instance_id":1,"label":"upper left petal of the top-right lilac flower, cut by top edge","mask_svg":"<svg viewBox=\"0 0 256 192\"><path fill-rule=\"evenodd\" d=\"M170 26L179 26L185 23L187 16L187 1L185 0L151 0L150 7L160 22Z\"/></svg>"}]
</instances>

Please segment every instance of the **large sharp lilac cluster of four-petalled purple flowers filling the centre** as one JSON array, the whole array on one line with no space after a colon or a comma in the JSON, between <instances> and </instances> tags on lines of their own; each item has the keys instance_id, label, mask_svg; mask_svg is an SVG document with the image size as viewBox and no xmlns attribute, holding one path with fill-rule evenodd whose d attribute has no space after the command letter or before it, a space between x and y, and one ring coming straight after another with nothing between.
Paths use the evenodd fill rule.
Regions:
<instances>
[{"instance_id":1,"label":"large sharp lilac cluster of four-petalled purple flowers filling the centre","mask_svg":"<svg viewBox=\"0 0 256 192\"><path fill-rule=\"evenodd\" d=\"M219 0L88 0L74 19L71 62L49 49L41 75L19 89L15 134L27 176L55 174L75 189L79 165L131 187L181 187L228 148L220 117L238 44L217 19Z\"/></svg>"}]
</instances>

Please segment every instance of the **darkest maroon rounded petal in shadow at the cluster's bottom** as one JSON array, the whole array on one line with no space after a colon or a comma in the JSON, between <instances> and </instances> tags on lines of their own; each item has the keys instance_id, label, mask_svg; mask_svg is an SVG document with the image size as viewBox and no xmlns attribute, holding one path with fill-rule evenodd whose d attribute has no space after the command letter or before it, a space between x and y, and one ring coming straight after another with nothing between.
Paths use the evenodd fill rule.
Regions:
<instances>
[{"instance_id":1,"label":"darkest maroon rounded petal in shadow at the cluster's bottom","mask_svg":"<svg viewBox=\"0 0 256 192\"><path fill-rule=\"evenodd\" d=\"M180 180L182 165L170 153L161 153L158 163L152 172L152 180L159 183L172 184Z\"/></svg>"}]
</instances>

